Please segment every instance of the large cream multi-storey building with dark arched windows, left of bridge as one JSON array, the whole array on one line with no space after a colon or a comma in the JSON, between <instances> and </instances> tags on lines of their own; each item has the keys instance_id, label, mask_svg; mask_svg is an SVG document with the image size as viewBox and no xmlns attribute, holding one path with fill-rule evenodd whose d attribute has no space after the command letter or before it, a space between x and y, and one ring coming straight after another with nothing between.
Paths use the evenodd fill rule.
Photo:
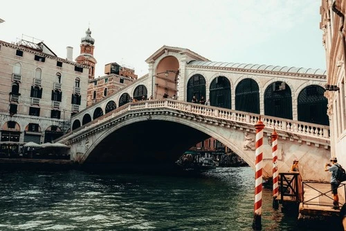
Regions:
<instances>
[{"instance_id":1,"label":"large cream multi-storey building with dark arched windows, left of bridge","mask_svg":"<svg viewBox=\"0 0 346 231\"><path fill-rule=\"evenodd\" d=\"M41 40L0 40L0 153L15 155L26 142L42 144L70 128L86 108L89 67L60 58Z\"/></svg>"}]
</instances>

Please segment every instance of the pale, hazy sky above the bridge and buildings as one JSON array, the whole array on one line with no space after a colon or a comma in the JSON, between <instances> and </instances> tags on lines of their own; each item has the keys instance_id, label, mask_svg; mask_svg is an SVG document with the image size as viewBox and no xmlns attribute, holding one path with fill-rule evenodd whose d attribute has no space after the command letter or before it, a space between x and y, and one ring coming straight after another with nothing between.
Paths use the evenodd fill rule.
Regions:
<instances>
[{"instance_id":1,"label":"pale, hazy sky above the bridge and buildings","mask_svg":"<svg viewBox=\"0 0 346 231\"><path fill-rule=\"evenodd\" d=\"M13 10L15 4L15 10ZM90 28L95 76L117 62L148 73L162 46L190 49L215 62L326 69L320 0L2 0L0 40L35 37L73 59Z\"/></svg>"}]
</instances>

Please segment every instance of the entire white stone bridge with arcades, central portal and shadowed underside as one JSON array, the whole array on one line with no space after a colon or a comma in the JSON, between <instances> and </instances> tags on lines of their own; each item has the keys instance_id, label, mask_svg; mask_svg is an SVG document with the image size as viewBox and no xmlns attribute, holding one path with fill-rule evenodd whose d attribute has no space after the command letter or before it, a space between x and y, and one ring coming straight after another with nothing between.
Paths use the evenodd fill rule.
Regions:
<instances>
[{"instance_id":1,"label":"entire white stone bridge with arcades, central portal and shadowed underside","mask_svg":"<svg viewBox=\"0 0 346 231\"><path fill-rule=\"evenodd\" d=\"M72 117L72 131L57 142L71 146L73 160L174 162L194 144L215 137L254 168L254 146L248 140L255 137L261 114L265 139L273 128L280 135L280 171L288 171L298 157L304 179L328 180L323 171L330 157L325 71L211 62L171 46L146 62L149 74ZM176 100L170 99L173 95ZM143 96L153 99L129 103ZM190 103L192 96L204 96L210 105ZM265 144L268 177L270 140Z\"/></svg>"}]
</instances>

